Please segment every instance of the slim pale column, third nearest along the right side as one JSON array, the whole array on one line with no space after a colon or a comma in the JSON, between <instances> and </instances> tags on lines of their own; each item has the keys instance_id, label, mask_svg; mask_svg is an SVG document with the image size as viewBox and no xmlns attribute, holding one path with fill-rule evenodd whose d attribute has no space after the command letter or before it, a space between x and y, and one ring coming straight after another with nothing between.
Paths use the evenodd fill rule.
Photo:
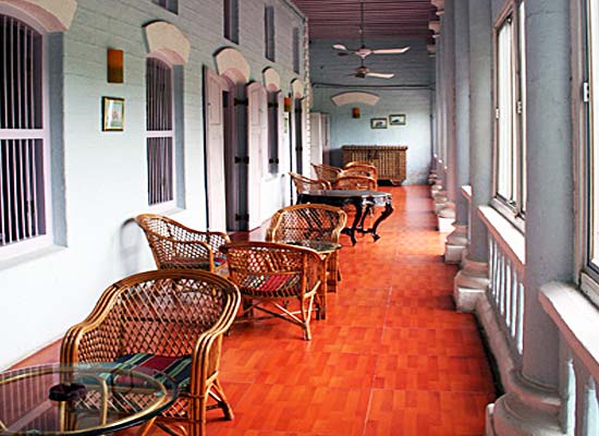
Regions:
<instances>
[{"instance_id":1,"label":"slim pale column, third nearest along the right side","mask_svg":"<svg viewBox=\"0 0 599 436\"><path fill-rule=\"evenodd\" d=\"M468 3L456 1L453 8L454 23L454 77L455 77L455 142L454 142L454 195L455 221L453 232L445 241L444 261L462 262L468 243L468 203L462 195L462 186L469 181L469 48Z\"/></svg>"}]
</instances>

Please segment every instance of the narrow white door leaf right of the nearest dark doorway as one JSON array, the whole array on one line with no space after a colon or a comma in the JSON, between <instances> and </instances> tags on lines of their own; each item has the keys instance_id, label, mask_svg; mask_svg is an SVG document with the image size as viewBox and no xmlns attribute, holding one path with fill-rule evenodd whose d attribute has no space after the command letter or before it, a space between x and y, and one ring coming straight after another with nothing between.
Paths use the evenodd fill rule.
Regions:
<instances>
[{"instance_id":1,"label":"narrow white door leaf right of the nearest dark doorway","mask_svg":"<svg viewBox=\"0 0 599 436\"><path fill-rule=\"evenodd\" d=\"M261 189L264 169L268 169L268 97L259 83L246 87L247 93L247 214L248 229L262 223Z\"/></svg>"}]
</instances>

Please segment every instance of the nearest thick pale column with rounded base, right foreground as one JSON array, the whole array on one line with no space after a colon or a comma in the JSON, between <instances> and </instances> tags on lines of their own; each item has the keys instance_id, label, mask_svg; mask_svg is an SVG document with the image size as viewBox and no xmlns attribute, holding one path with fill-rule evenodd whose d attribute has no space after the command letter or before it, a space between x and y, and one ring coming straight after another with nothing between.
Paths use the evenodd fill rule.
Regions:
<instances>
[{"instance_id":1,"label":"nearest thick pale column with rounded base, right foreground","mask_svg":"<svg viewBox=\"0 0 599 436\"><path fill-rule=\"evenodd\" d=\"M492 426L498 435L563 434L557 392L560 338L539 303L539 290L549 281L573 278L569 3L526 0L528 174L523 364L509 380L508 393L496 402Z\"/></svg>"}]
</instances>

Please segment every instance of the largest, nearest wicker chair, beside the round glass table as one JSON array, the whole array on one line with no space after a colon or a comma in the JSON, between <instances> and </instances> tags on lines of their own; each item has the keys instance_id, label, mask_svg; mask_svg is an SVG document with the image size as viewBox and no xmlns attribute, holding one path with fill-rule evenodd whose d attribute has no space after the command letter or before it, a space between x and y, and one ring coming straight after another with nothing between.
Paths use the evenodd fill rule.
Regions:
<instances>
[{"instance_id":1,"label":"largest, nearest wicker chair, beside the round glass table","mask_svg":"<svg viewBox=\"0 0 599 436\"><path fill-rule=\"evenodd\" d=\"M61 363L129 362L143 371L160 360L161 371L179 383L180 395L157 425L164 428L170 422L181 429L186 424L192 436L203 436L207 410L219 408L233 419L218 375L222 336L240 301L237 288L211 272L136 274L110 286L87 318L69 329Z\"/></svg>"}]
</instances>

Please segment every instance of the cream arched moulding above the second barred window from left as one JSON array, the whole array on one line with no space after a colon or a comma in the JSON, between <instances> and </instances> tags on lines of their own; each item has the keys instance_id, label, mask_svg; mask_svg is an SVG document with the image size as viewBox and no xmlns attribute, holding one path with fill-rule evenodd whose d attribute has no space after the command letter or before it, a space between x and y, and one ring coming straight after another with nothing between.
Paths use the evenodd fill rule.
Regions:
<instances>
[{"instance_id":1,"label":"cream arched moulding above the second barred window from left","mask_svg":"<svg viewBox=\"0 0 599 436\"><path fill-rule=\"evenodd\" d=\"M173 24L157 21L145 27L148 53L160 55L172 65L183 65L190 59L190 40Z\"/></svg>"}]
</instances>

